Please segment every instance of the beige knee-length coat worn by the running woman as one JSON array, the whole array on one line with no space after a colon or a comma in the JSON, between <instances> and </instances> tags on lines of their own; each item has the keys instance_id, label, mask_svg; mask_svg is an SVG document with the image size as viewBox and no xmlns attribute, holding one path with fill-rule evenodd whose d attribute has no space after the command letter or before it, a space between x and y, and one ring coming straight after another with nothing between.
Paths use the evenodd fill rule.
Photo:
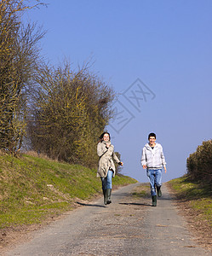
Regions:
<instances>
[{"instance_id":1,"label":"beige knee-length coat worn by the running woman","mask_svg":"<svg viewBox=\"0 0 212 256\"><path fill-rule=\"evenodd\" d=\"M117 163L119 163L120 160L118 160L117 155L114 153L113 145L106 148L106 144L104 142L98 143L97 154L100 156L97 177L106 177L109 169L113 170L112 177L115 177L116 168L112 157Z\"/></svg>"}]
</instances>

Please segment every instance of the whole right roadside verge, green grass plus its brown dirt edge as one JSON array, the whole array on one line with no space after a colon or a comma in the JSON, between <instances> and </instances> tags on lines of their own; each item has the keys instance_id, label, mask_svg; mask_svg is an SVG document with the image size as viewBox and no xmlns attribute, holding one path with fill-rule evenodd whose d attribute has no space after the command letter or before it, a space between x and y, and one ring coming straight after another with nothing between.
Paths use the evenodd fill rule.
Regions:
<instances>
[{"instance_id":1,"label":"whole right roadside verge, green grass plus its brown dirt edge","mask_svg":"<svg viewBox=\"0 0 212 256\"><path fill-rule=\"evenodd\" d=\"M167 183L174 192L176 205L186 218L198 244L212 250L212 190L209 183L193 182L189 177Z\"/></svg>"}]
</instances>

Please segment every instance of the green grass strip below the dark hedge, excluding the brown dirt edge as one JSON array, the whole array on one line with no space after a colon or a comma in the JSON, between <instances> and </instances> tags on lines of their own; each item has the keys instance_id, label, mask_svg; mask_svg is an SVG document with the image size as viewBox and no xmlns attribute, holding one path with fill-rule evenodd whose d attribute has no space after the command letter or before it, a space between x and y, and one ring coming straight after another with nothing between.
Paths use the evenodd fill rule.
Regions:
<instances>
[{"instance_id":1,"label":"green grass strip below the dark hedge, excluding the brown dirt edge","mask_svg":"<svg viewBox=\"0 0 212 256\"><path fill-rule=\"evenodd\" d=\"M194 182L189 177L179 177L168 182L180 201L188 203L195 212L197 220L207 221L212 227L212 189L211 184Z\"/></svg>"}]
</instances>

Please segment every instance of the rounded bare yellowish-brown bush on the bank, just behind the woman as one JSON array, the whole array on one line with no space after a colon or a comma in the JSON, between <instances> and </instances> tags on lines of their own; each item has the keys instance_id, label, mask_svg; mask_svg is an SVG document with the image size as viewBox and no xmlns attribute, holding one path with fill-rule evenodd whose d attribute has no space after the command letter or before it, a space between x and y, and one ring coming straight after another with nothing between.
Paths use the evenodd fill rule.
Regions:
<instances>
[{"instance_id":1,"label":"rounded bare yellowish-brown bush on the bank, just behind the woman","mask_svg":"<svg viewBox=\"0 0 212 256\"><path fill-rule=\"evenodd\" d=\"M51 159L96 167L96 144L111 118L113 90L87 67L74 72L68 63L43 67L37 84L28 122L31 149Z\"/></svg>"}]
</instances>

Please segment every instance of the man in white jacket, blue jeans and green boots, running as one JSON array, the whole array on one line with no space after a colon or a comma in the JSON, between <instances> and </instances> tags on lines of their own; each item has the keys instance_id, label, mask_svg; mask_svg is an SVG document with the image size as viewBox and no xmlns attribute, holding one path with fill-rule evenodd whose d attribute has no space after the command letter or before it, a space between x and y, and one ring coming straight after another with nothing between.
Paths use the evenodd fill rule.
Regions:
<instances>
[{"instance_id":1,"label":"man in white jacket, blue jeans and green boots, running","mask_svg":"<svg viewBox=\"0 0 212 256\"><path fill-rule=\"evenodd\" d=\"M148 140L149 143L146 143L142 151L141 166L146 169L146 175L149 178L149 182L151 185L152 207L156 207L157 193L158 197L162 196L162 166L166 173L166 162L161 144L156 143L155 133L150 133L148 136Z\"/></svg>"}]
</instances>

